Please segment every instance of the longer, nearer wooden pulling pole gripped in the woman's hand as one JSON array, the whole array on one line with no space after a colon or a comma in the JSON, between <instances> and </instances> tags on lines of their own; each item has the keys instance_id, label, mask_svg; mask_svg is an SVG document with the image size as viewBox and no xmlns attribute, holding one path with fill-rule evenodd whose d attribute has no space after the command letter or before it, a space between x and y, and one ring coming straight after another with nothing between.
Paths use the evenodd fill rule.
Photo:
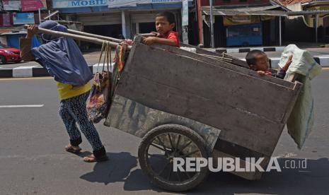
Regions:
<instances>
[{"instance_id":1,"label":"longer, nearer wooden pulling pole gripped in the woman's hand","mask_svg":"<svg viewBox=\"0 0 329 195\"><path fill-rule=\"evenodd\" d=\"M24 28L28 28L28 25L24 25ZM47 34L47 35L54 35L54 36L57 36L57 37L70 37L74 40L92 42L92 43L96 43L96 44L99 44L99 45L103 45L103 42L108 42L111 47L117 47L117 45L119 45L119 43L117 43L117 42L111 42L111 41L108 41L108 40L101 40L101 39L98 39L98 38L95 38L95 37L75 35L75 34L71 34L71 33L67 33L67 32L59 32L59 31L54 31L54 30L48 30L48 29L45 29L45 28L38 28L37 32L38 33L44 33L44 34ZM128 48L130 49L131 47L129 46Z\"/></svg>"}]
</instances>

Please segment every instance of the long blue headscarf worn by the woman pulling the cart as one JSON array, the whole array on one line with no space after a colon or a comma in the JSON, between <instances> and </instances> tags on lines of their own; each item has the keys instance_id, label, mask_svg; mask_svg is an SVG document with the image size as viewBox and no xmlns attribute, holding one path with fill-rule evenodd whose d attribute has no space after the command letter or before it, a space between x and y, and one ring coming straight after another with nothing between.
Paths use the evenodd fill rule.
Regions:
<instances>
[{"instance_id":1,"label":"long blue headscarf worn by the woman pulling the cart","mask_svg":"<svg viewBox=\"0 0 329 195\"><path fill-rule=\"evenodd\" d=\"M55 31L67 32L67 28L59 23L47 20L39 25ZM60 83L81 86L93 78L91 70L76 45L76 42L67 37L42 35L45 44L34 47L31 52L35 59L47 69L50 76Z\"/></svg>"}]
</instances>

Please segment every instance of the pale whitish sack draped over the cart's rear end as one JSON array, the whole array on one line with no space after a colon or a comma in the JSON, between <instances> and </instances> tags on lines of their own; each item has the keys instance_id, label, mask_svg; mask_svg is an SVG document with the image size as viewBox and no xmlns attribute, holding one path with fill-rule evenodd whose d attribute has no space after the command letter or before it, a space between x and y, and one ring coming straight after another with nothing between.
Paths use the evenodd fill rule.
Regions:
<instances>
[{"instance_id":1,"label":"pale whitish sack draped over the cart's rear end","mask_svg":"<svg viewBox=\"0 0 329 195\"><path fill-rule=\"evenodd\" d=\"M314 100L311 90L311 80L321 73L321 66L316 63L312 55L296 45L288 45L284 48L279 66L283 67L287 59L293 55L292 64L287 70L286 77L292 73L299 73L299 81L304 86L299 94L299 98L294 105L287 122L288 133L294 138L300 149L310 134L314 123Z\"/></svg>"}]
</instances>

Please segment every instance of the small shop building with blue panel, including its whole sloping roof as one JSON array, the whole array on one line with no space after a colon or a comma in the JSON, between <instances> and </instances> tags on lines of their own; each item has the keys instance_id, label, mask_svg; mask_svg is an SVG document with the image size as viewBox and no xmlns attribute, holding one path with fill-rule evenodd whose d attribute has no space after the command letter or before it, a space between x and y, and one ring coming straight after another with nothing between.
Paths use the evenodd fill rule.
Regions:
<instances>
[{"instance_id":1,"label":"small shop building with blue panel, including its whole sloping roof","mask_svg":"<svg viewBox=\"0 0 329 195\"><path fill-rule=\"evenodd\" d=\"M279 45L279 16L249 14L248 11L287 11L270 0L214 0L214 47ZM210 47L209 1L197 4L199 42ZM243 13L234 14L234 12ZM233 13L233 14L232 14Z\"/></svg>"}]
</instances>

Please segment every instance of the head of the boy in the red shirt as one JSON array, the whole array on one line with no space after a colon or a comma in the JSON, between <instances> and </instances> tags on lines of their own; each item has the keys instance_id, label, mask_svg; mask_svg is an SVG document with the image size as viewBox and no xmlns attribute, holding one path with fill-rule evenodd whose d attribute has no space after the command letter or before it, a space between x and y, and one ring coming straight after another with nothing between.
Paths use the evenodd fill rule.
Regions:
<instances>
[{"instance_id":1,"label":"head of the boy in the red shirt","mask_svg":"<svg viewBox=\"0 0 329 195\"><path fill-rule=\"evenodd\" d=\"M166 35L175 28L175 16L169 11L156 14L156 32Z\"/></svg>"}]
</instances>

